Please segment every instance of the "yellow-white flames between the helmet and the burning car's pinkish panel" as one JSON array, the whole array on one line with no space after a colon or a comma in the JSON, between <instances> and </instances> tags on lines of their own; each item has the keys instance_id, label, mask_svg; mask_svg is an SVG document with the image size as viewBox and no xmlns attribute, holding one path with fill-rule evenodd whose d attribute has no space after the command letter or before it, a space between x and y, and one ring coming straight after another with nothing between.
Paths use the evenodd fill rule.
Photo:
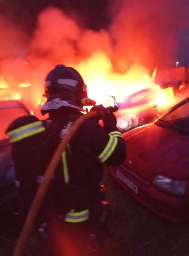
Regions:
<instances>
[{"instance_id":1,"label":"yellow-white flames between the helmet and the burning car's pinkish panel","mask_svg":"<svg viewBox=\"0 0 189 256\"><path fill-rule=\"evenodd\" d=\"M133 65L124 74L113 72L110 60L102 52L94 53L90 59L82 61L75 68L86 81L88 97L94 99L97 104L103 103L107 95L114 95L118 102L122 102L126 96L136 91L159 88L139 64Z\"/></svg>"}]
</instances>

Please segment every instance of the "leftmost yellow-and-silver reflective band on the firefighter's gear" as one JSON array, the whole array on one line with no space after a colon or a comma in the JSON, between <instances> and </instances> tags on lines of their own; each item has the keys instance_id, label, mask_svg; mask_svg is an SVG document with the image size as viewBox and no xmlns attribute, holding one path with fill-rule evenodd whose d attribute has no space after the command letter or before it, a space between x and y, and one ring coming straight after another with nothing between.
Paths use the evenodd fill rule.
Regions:
<instances>
[{"instance_id":1,"label":"leftmost yellow-and-silver reflective band on the firefighter's gear","mask_svg":"<svg viewBox=\"0 0 189 256\"><path fill-rule=\"evenodd\" d=\"M23 125L17 129L14 129L10 132L7 132L10 142L17 142L19 140L23 140L37 133L43 132L46 129L43 126L41 121L37 121L34 123Z\"/></svg>"}]
</instances>

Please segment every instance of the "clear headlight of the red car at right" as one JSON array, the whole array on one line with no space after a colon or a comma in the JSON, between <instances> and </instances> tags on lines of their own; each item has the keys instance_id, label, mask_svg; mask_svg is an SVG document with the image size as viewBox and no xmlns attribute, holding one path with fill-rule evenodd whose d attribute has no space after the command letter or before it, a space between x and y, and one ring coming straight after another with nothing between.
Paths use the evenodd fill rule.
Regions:
<instances>
[{"instance_id":1,"label":"clear headlight of the red car at right","mask_svg":"<svg viewBox=\"0 0 189 256\"><path fill-rule=\"evenodd\" d=\"M185 181L172 180L162 175L156 175L152 182L154 185L172 192L175 195L184 195L186 183Z\"/></svg>"}]
</instances>

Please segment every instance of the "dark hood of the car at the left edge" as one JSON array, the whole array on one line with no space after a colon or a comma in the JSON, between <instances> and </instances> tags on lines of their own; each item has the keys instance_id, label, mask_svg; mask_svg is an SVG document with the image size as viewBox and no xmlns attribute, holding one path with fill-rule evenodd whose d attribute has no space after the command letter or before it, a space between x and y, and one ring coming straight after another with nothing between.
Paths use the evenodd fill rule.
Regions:
<instances>
[{"instance_id":1,"label":"dark hood of the car at the left edge","mask_svg":"<svg viewBox=\"0 0 189 256\"><path fill-rule=\"evenodd\" d=\"M0 140L0 187L15 180L15 168L9 140Z\"/></svg>"}]
</instances>

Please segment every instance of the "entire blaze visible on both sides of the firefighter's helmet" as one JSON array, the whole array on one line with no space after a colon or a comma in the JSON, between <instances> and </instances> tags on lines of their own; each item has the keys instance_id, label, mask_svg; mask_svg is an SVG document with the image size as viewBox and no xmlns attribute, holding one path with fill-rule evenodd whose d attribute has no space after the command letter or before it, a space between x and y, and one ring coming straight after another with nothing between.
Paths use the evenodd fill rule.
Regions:
<instances>
[{"instance_id":1,"label":"entire blaze visible on both sides of the firefighter's helmet","mask_svg":"<svg viewBox=\"0 0 189 256\"><path fill-rule=\"evenodd\" d=\"M89 59L74 67L87 84L88 97L97 104L105 104L107 95L113 95L120 106L119 113L137 114L154 106L166 109L175 103L171 87L162 90L154 83L156 69L150 76L141 65L135 64L127 72L120 74L113 71L111 61L103 52L95 52ZM0 78L0 100L23 100L34 113L42 105L42 91L42 81L39 81L38 90L32 80L18 84L15 89L15 86L12 87Z\"/></svg>"}]
</instances>

